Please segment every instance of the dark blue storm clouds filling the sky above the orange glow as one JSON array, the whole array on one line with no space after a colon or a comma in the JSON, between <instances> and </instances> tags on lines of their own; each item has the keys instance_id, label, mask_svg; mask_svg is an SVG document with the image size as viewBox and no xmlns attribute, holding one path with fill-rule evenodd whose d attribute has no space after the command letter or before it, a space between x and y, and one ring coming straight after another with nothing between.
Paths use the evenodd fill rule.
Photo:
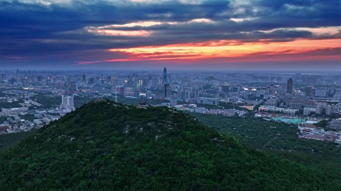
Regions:
<instances>
[{"instance_id":1,"label":"dark blue storm clouds filling the sky above the orange glow","mask_svg":"<svg viewBox=\"0 0 341 191\"><path fill-rule=\"evenodd\" d=\"M241 3L243 2L243 3ZM205 18L212 22L190 22ZM230 18L246 20L235 22ZM341 25L340 0L208 0L182 1L71 1L41 3L0 2L0 60L25 57L48 60L63 56L69 61L97 58L110 48L166 45L209 40L335 38L315 36L297 27ZM146 30L150 36L106 36L87 27L160 21L152 26L113 27L121 31ZM167 23L167 22L172 22ZM106 53L113 55L113 53ZM109 56L110 56L109 55ZM107 55L104 55L107 56ZM84 59L81 59L84 60Z\"/></svg>"}]
</instances>

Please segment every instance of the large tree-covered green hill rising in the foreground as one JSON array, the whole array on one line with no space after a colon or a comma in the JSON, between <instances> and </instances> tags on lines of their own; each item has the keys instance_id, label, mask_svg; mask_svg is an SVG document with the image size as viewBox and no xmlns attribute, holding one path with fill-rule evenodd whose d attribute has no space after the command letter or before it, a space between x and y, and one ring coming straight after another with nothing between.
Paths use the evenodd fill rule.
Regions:
<instances>
[{"instance_id":1,"label":"large tree-covered green hill rising in the foreground","mask_svg":"<svg viewBox=\"0 0 341 191\"><path fill-rule=\"evenodd\" d=\"M0 154L0 190L340 190L341 183L247 149L188 114L98 99Z\"/></svg>"}]
</instances>

